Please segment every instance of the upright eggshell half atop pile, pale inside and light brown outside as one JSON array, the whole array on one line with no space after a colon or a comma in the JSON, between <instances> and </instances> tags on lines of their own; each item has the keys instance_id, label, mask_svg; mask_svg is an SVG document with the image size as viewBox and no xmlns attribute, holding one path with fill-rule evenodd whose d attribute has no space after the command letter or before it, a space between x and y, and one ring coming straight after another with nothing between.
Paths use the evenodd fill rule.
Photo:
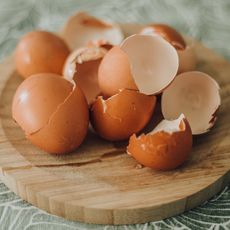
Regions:
<instances>
[{"instance_id":1,"label":"upright eggshell half atop pile, pale inside and light brown outside","mask_svg":"<svg viewBox=\"0 0 230 230\"><path fill-rule=\"evenodd\" d=\"M175 48L160 36L132 35L105 55L98 81L108 96L122 88L156 95L173 81L178 65Z\"/></svg>"}]
</instances>

